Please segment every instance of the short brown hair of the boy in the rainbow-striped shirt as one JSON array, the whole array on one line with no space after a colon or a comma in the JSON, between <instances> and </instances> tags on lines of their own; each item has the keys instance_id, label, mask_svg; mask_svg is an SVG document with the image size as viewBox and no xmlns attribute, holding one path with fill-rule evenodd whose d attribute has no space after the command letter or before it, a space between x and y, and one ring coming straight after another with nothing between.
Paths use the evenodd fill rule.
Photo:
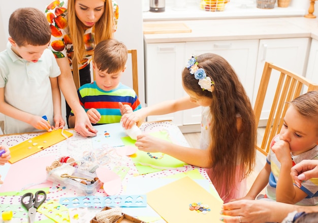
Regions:
<instances>
[{"instance_id":1,"label":"short brown hair of the boy in the rainbow-striped shirt","mask_svg":"<svg viewBox=\"0 0 318 223\"><path fill-rule=\"evenodd\" d=\"M127 57L127 47L116 39L99 42L94 49L94 63L101 71L116 73L124 69Z\"/></svg>"}]
</instances>

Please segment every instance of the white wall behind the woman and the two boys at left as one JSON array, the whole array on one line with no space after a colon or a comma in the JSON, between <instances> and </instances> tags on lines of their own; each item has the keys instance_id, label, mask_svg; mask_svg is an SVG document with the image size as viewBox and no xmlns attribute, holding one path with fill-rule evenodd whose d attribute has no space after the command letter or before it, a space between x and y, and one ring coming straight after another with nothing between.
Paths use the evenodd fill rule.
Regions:
<instances>
[{"instance_id":1,"label":"white wall behind the woman and the two boys at left","mask_svg":"<svg viewBox=\"0 0 318 223\"><path fill-rule=\"evenodd\" d=\"M35 7L45 11L45 7L52 0L10 0L0 4L0 51L6 49L8 41L8 22L11 13L17 8ZM118 27L115 38L123 42L129 49L138 50L138 82L139 99L142 106L145 104L144 87L144 50L142 33L142 3L140 0L116 0L119 6ZM131 64L127 63L126 72L122 76L122 82L130 87L132 84ZM62 106L62 108L65 106ZM65 117L65 115L63 115ZM3 115L0 114L0 120Z\"/></svg>"}]
</instances>

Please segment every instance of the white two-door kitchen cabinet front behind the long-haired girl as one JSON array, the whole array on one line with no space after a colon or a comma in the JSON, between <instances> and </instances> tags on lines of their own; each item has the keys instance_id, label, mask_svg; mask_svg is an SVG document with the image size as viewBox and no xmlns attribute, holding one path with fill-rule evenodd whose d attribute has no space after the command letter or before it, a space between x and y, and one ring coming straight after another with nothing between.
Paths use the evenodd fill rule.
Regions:
<instances>
[{"instance_id":1,"label":"white two-door kitchen cabinet front behind the long-haired girl","mask_svg":"<svg viewBox=\"0 0 318 223\"><path fill-rule=\"evenodd\" d=\"M185 96L181 72L192 55L212 52L221 55L236 70L248 96L253 94L258 40L202 41L146 44L147 106ZM163 90L161 91L161 89ZM149 117L148 121L173 120L177 125L200 124L201 107L176 114Z\"/></svg>"}]
</instances>

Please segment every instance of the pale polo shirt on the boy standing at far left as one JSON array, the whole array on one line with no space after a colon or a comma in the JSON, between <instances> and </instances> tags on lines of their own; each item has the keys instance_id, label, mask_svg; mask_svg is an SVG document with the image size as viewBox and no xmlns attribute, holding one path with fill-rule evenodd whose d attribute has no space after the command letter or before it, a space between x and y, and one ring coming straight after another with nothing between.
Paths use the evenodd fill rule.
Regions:
<instances>
[{"instance_id":1,"label":"pale polo shirt on the boy standing at far left","mask_svg":"<svg viewBox=\"0 0 318 223\"><path fill-rule=\"evenodd\" d=\"M48 117L53 124L53 99L50 77L60 74L51 50L45 49L38 62L28 62L11 49L0 52L0 88L5 101L29 114ZM5 134L39 131L33 126L5 115Z\"/></svg>"}]
</instances>

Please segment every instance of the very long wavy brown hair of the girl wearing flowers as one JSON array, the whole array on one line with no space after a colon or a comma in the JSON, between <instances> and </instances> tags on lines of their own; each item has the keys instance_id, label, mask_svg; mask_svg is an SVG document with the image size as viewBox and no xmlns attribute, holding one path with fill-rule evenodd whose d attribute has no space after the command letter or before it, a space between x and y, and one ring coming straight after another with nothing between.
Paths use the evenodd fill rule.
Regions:
<instances>
[{"instance_id":1,"label":"very long wavy brown hair of the girl wearing flowers","mask_svg":"<svg viewBox=\"0 0 318 223\"><path fill-rule=\"evenodd\" d=\"M198 67L203 68L214 82L214 90L202 90L198 80L187 68L182 72L182 83L185 89L199 96L212 98L209 148L212 162L211 181L217 190L226 185L226 196L229 196L235 188L237 165L241 164L241 179L247 177L255 165L255 116L242 83L228 61L217 54L204 53L197 57L197 62ZM241 117L239 123L238 115Z\"/></svg>"}]
</instances>

